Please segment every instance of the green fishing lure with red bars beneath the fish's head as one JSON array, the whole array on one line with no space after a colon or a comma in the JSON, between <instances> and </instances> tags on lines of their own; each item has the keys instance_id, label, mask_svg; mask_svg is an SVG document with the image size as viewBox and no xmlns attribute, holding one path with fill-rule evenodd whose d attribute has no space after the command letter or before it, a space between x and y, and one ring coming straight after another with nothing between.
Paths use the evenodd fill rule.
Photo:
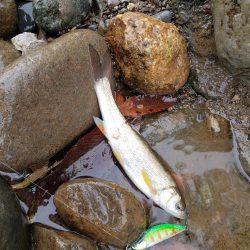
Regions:
<instances>
[{"instance_id":1,"label":"green fishing lure with red bars beneath the fish's head","mask_svg":"<svg viewBox=\"0 0 250 250\"><path fill-rule=\"evenodd\" d=\"M149 228L135 242L129 244L126 250L144 250L183 231L186 226L177 224L159 224Z\"/></svg>"}]
</instances>

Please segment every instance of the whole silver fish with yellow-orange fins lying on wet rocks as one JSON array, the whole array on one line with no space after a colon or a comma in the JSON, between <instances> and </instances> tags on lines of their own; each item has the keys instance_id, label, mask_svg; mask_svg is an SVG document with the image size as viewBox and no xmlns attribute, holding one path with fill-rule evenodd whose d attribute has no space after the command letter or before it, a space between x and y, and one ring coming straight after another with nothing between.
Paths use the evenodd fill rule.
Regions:
<instances>
[{"instance_id":1,"label":"whole silver fish with yellow-orange fins lying on wet rocks","mask_svg":"<svg viewBox=\"0 0 250 250\"><path fill-rule=\"evenodd\" d=\"M90 45L94 88L103 121L94 118L108 139L114 155L131 181L158 206L177 218L185 219L185 205L171 175L164 169L155 152L133 130L120 113L110 86L111 58L107 53L103 63Z\"/></svg>"}]
</instances>

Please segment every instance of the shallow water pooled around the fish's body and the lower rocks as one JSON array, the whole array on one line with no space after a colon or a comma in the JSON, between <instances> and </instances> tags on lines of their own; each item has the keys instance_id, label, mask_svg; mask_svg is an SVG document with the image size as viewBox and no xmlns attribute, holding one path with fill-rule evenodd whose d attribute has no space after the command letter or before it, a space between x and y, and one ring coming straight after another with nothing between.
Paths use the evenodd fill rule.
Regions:
<instances>
[{"instance_id":1,"label":"shallow water pooled around the fish's body and the lower rocks","mask_svg":"<svg viewBox=\"0 0 250 250\"><path fill-rule=\"evenodd\" d=\"M161 120L157 116L153 118L157 123L152 122L152 118L146 119L142 128L153 148L182 176L182 193L189 212L189 231L152 249L247 249L250 245L250 185L238 171L230 125L217 117L221 132L214 133L206 120L207 111L183 114L189 117L188 121L181 120L185 120L185 115L171 120L171 126L178 129L168 128L165 117ZM154 133L157 136L150 137ZM41 188L33 186L18 192L32 222L70 230L56 213L54 192L67 180L98 177L133 192L147 207L151 225L185 223L169 216L135 188L98 132L92 131L81 139L78 150L73 148L73 153L65 159L61 167L38 182Z\"/></svg>"}]
</instances>

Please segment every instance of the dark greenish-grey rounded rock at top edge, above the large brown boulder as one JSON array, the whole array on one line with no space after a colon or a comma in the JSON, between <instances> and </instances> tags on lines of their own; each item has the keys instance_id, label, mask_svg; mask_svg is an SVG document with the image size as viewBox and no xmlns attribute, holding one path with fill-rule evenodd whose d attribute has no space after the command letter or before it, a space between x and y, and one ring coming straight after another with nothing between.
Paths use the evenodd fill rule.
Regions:
<instances>
[{"instance_id":1,"label":"dark greenish-grey rounded rock at top edge, above the large brown boulder","mask_svg":"<svg viewBox=\"0 0 250 250\"><path fill-rule=\"evenodd\" d=\"M80 24L91 4L90 0L34 0L33 15L43 30L56 34Z\"/></svg>"}]
</instances>

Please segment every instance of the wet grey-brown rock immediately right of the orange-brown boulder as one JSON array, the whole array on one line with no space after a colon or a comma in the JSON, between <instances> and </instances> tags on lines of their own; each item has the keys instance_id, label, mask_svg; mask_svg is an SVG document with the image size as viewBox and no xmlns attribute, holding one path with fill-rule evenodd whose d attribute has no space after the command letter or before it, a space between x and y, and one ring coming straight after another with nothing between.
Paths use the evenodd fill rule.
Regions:
<instances>
[{"instance_id":1,"label":"wet grey-brown rock immediately right of the orange-brown boulder","mask_svg":"<svg viewBox=\"0 0 250 250\"><path fill-rule=\"evenodd\" d=\"M211 58L193 56L191 72L195 91L206 98L222 98L234 83L231 74Z\"/></svg>"}]
</instances>

